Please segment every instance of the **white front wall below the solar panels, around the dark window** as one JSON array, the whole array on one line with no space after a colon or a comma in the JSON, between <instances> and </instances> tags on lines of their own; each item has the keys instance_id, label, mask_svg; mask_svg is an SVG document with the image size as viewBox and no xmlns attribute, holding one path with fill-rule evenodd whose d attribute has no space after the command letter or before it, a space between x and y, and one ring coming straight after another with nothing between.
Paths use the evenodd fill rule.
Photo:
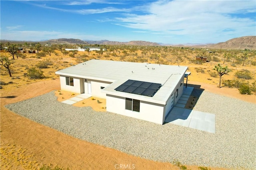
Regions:
<instances>
[{"instance_id":1,"label":"white front wall below the solar panels, around the dark window","mask_svg":"<svg viewBox=\"0 0 256 170\"><path fill-rule=\"evenodd\" d=\"M140 101L140 112L130 111L125 109L125 98L119 96L106 96L107 111L151 121L158 124L163 124L164 120L164 105L154 104L150 102Z\"/></svg>"}]
</instances>

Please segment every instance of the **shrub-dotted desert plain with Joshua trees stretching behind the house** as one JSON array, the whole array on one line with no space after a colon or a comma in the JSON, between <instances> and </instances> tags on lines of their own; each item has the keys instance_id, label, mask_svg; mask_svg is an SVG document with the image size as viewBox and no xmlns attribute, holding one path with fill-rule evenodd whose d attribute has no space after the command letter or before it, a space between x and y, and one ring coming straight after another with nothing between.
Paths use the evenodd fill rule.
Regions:
<instances>
[{"instance_id":1,"label":"shrub-dotted desert plain with Joshua trees stretching behind the house","mask_svg":"<svg viewBox=\"0 0 256 170\"><path fill-rule=\"evenodd\" d=\"M84 47L86 46L86 47ZM88 47L100 47L100 51L90 51ZM7 47L7 49L4 49ZM76 49L84 48L85 51ZM219 84L222 76L215 66L222 64L228 68L223 78L223 86L240 88L227 82L234 79L247 80L254 93L253 82L256 74L255 50L219 50L192 47L143 46L143 45L82 45L82 44L1 44L1 86L18 88L25 84L47 79L56 79L55 71L90 59L156 63L188 66L192 74L189 80ZM21 53L18 49L32 51ZM65 49L74 49L66 51ZM33 53L33 51L35 53ZM217 69L217 70L214 70ZM18 77L18 78L17 78ZM13 82L9 84L8 82ZM5 85L3 85L5 84ZM222 87L223 87L222 86ZM252 94L250 93L250 94ZM242 93L244 94L244 93ZM249 94L249 93L246 93Z\"/></svg>"}]
</instances>

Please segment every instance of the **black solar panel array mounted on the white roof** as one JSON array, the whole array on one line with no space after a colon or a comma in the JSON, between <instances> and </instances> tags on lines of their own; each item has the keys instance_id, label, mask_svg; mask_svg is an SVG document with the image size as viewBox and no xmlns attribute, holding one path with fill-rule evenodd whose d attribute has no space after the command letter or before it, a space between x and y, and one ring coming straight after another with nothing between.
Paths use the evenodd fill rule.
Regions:
<instances>
[{"instance_id":1,"label":"black solar panel array mounted on the white roof","mask_svg":"<svg viewBox=\"0 0 256 170\"><path fill-rule=\"evenodd\" d=\"M127 80L117 88L116 91L126 92L132 94L139 94L143 96L154 96L162 85L158 83L142 82L137 80Z\"/></svg>"}]
</instances>

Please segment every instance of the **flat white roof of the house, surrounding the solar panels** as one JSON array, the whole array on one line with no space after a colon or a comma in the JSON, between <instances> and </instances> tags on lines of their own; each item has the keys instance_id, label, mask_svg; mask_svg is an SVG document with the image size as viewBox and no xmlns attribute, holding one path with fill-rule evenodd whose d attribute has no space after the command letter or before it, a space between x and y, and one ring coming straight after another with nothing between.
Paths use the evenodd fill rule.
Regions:
<instances>
[{"instance_id":1,"label":"flat white roof of the house, surrounding the solar panels","mask_svg":"<svg viewBox=\"0 0 256 170\"><path fill-rule=\"evenodd\" d=\"M174 66L150 63L131 63L123 61L90 60L55 72L72 76L113 82L102 89L106 94L134 98L146 102L166 104L176 85L184 78L187 66ZM161 84L162 87L153 97L119 92L115 89L127 80L138 80Z\"/></svg>"}]
</instances>

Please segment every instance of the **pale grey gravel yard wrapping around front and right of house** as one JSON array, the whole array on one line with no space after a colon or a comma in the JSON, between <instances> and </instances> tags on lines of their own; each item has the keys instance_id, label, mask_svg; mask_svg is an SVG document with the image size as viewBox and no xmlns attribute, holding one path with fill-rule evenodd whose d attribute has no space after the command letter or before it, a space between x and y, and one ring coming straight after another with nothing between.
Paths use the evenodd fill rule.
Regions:
<instances>
[{"instance_id":1,"label":"pale grey gravel yard wrapping around front and right of house","mask_svg":"<svg viewBox=\"0 0 256 170\"><path fill-rule=\"evenodd\" d=\"M196 89L192 95L200 95L195 110L216 115L215 134L70 106L54 92L6 107L73 137L154 161L256 169L256 105Z\"/></svg>"}]
</instances>

